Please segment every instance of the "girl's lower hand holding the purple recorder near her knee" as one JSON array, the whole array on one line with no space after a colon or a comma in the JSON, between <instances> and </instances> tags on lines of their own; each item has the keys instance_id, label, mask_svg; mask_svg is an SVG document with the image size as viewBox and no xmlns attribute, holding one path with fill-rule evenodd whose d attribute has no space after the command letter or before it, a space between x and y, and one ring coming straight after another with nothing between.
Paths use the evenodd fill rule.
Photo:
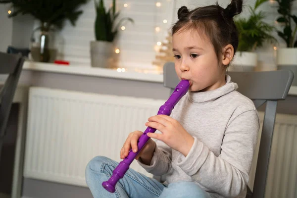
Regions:
<instances>
[{"instance_id":1,"label":"girl's lower hand holding the purple recorder near her knee","mask_svg":"<svg viewBox=\"0 0 297 198\"><path fill-rule=\"evenodd\" d=\"M137 141L140 138L140 136L143 134L141 131L134 131L130 133L123 145L123 148L121 149L120 157L121 159L124 159L128 156L129 150L132 148L133 152L137 152ZM149 139L146 145L143 147L143 149L137 154L135 159L139 159L141 157L143 161L150 163L150 159L153 155L153 151L155 149L155 143L153 140Z\"/></svg>"}]
</instances>

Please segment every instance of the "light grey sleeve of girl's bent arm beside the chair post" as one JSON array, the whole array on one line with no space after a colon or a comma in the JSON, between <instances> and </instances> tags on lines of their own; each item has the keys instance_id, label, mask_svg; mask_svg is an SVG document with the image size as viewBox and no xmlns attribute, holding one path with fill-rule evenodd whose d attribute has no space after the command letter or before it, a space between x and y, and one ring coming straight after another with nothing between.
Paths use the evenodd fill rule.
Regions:
<instances>
[{"instance_id":1,"label":"light grey sleeve of girl's bent arm beside the chair post","mask_svg":"<svg viewBox=\"0 0 297 198\"><path fill-rule=\"evenodd\" d=\"M189 154L180 155L177 165L204 187L236 197L247 186L258 131L256 110L245 111L227 126L219 156L194 137Z\"/></svg>"}]
</instances>

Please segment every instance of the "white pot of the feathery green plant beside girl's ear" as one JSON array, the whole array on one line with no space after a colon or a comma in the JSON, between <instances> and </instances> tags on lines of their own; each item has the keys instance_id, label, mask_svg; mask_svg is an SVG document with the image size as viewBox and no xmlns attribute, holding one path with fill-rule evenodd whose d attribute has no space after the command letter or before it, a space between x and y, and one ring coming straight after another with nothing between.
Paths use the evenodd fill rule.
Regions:
<instances>
[{"instance_id":1,"label":"white pot of the feathery green plant beside girl's ear","mask_svg":"<svg viewBox=\"0 0 297 198\"><path fill-rule=\"evenodd\" d=\"M254 71L258 56L255 52L237 51L228 71Z\"/></svg>"}]
</instances>

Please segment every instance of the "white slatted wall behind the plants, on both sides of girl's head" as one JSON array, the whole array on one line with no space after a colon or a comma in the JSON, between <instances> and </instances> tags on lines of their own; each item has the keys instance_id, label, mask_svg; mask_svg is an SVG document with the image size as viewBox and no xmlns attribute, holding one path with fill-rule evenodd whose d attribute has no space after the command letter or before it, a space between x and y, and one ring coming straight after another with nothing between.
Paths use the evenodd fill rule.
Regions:
<instances>
[{"instance_id":1,"label":"white slatted wall behind the plants, on both sides of girl's head","mask_svg":"<svg viewBox=\"0 0 297 198\"><path fill-rule=\"evenodd\" d=\"M161 2L160 7L156 7L156 2ZM166 33L177 20L177 10L182 5L189 8L204 6L215 3L215 0L117 0L117 8L121 10L121 17L131 17L135 20L135 24L126 23L124 31L120 30L116 48L120 49L118 67L125 67L131 70L134 68L153 69L151 62L155 59L156 51L154 47L158 41L162 42L166 38ZM219 4L226 7L231 0L218 0ZM245 0L245 8L243 13L238 17L246 17L249 15L247 5L254 5L255 0ZM278 15L276 4L267 1L259 7L259 10L266 12L266 22L277 25L275 19ZM108 7L111 0L105 0ZM124 7L124 3L128 7ZM84 13L80 16L75 27L71 26L67 21L64 29L59 33L59 58L70 61L72 66L88 66L91 65L90 60L90 41L95 40L94 21L95 8L94 2L91 0L88 4L83 5ZM168 23L164 24L163 19L167 19ZM158 33L155 27L161 27ZM285 43L274 33L279 44L277 47L285 46ZM258 69L273 70L275 69L276 51L273 45L265 45L261 49L257 49L258 53Z\"/></svg>"}]
</instances>

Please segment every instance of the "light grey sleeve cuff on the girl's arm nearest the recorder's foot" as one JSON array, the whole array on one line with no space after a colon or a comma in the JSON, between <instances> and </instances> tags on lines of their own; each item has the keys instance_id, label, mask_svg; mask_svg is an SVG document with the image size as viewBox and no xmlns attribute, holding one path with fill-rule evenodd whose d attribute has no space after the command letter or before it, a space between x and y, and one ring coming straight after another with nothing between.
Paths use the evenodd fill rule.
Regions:
<instances>
[{"instance_id":1,"label":"light grey sleeve cuff on the girl's arm nearest the recorder's foot","mask_svg":"<svg viewBox=\"0 0 297 198\"><path fill-rule=\"evenodd\" d=\"M161 176L171 170L172 152L171 148L162 141L156 140L155 144L155 150L150 165L142 163L141 158L137 161L148 173Z\"/></svg>"}]
</instances>

